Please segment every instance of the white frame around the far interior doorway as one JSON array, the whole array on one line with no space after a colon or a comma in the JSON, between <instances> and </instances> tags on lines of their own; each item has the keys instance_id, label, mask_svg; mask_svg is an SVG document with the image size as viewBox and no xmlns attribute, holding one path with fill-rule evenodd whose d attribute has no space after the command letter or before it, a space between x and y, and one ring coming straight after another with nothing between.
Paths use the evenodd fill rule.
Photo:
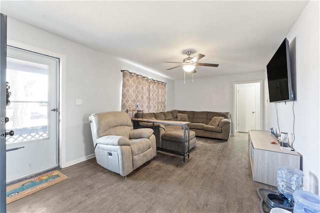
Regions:
<instances>
[{"instance_id":1,"label":"white frame around the far interior doorway","mask_svg":"<svg viewBox=\"0 0 320 213\"><path fill-rule=\"evenodd\" d=\"M263 129L263 80L252 80L252 81L240 81L240 82L232 82L232 112L233 112L233 117L234 121L232 122L231 125L231 135L234 135L235 131L235 125L237 123L237 94L236 94L236 87L238 84L247 84L247 83L259 83L260 84L260 128Z\"/></svg>"}]
</instances>

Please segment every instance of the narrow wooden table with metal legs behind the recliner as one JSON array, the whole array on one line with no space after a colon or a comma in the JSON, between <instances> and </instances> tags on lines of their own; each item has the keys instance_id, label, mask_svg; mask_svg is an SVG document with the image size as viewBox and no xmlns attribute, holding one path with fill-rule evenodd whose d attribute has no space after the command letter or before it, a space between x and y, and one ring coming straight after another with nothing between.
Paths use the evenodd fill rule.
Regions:
<instances>
[{"instance_id":1,"label":"narrow wooden table with metal legs behind the recliner","mask_svg":"<svg viewBox=\"0 0 320 213\"><path fill-rule=\"evenodd\" d=\"M163 148L157 148L157 149L182 154L183 155L183 162L185 162L185 156L188 156L188 158L189 158L190 122L188 122L188 121L174 121L174 120L156 120L156 119L146 119L146 118L136 118L136 117L131 118L131 120L152 123L153 129L154 129L154 123L169 124L169 125L181 125L183 127L183 152L175 152L175 151L171 151L171 150L167 150L167 149L163 149ZM185 150L185 142L186 141L188 143L187 150Z\"/></svg>"}]
</instances>

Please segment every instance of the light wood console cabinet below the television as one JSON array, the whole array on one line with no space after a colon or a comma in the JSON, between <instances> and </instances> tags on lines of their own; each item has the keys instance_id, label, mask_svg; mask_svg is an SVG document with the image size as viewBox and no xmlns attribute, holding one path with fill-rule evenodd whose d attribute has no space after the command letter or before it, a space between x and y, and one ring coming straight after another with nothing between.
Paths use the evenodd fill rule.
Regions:
<instances>
[{"instance_id":1,"label":"light wood console cabinet below the television","mask_svg":"<svg viewBox=\"0 0 320 213\"><path fill-rule=\"evenodd\" d=\"M249 130L249 160L254 181L277 186L278 167L301 169L298 152L282 150L268 131ZM302 161L302 160L301 160Z\"/></svg>"}]
</instances>

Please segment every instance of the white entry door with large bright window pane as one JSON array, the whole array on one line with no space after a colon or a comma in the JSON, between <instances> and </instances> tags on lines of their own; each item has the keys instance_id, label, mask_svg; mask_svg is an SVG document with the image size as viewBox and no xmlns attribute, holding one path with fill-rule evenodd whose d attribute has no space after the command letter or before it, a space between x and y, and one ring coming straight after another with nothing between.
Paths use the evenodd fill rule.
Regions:
<instances>
[{"instance_id":1,"label":"white entry door with large bright window pane","mask_svg":"<svg viewBox=\"0 0 320 213\"><path fill-rule=\"evenodd\" d=\"M7 48L7 182L58 166L57 69L57 58Z\"/></svg>"}]
</instances>

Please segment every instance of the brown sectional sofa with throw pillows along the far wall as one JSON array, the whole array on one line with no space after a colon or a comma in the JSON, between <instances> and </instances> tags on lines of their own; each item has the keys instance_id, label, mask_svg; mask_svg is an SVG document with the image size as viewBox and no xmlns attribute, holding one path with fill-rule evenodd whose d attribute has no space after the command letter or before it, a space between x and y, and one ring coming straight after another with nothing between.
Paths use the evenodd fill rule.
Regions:
<instances>
[{"instance_id":1,"label":"brown sectional sofa with throw pillows along the far wall","mask_svg":"<svg viewBox=\"0 0 320 213\"><path fill-rule=\"evenodd\" d=\"M187 117L190 122L190 149L195 146L195 136L219 138L227 140L230 135L230 113L229 112L214 112L214 111L186 111L186 110L171 110L166 112L156 113L136 113L135 117L157 120L181 120ZM215 125L211 124L212 118L220 117L221 120L215 120ZM214 119L215 119L214 118ZM134 122L135 128L152 127L152 123L141 121ZM178 151L181 149L175 141L178 134L181 134L181 126L169 124L154 124L154 135L156 139L156 147Z\"/></svg>"}]
</instances>

